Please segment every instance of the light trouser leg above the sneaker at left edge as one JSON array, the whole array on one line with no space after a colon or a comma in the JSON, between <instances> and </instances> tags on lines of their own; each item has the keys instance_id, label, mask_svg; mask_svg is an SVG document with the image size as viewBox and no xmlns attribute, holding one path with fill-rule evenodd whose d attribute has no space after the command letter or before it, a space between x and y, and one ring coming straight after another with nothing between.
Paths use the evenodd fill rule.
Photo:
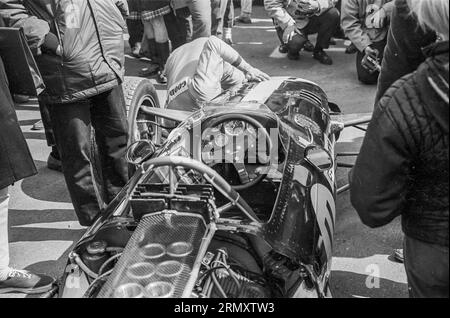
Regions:
<instances>
[{"instance_id":1,"label":"light trouser leg above the sneaker at left edge","mask_svg":"<svg viewBox=\"0 0 450 318\"><path fill-rule=\"evenodd\" d=\"M8 188L0 189L0 281L9 273L8 204Z\"/></svg>"}]
</instances>

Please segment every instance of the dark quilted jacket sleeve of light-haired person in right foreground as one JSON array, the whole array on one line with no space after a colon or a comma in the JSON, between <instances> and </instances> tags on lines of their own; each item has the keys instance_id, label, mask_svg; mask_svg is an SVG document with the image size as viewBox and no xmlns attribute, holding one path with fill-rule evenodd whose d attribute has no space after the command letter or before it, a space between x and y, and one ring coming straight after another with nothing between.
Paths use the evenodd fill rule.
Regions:
<instances>
[{"instance_id":1,"label":"dark quilted jacket sleeve of light-haired person in right foreground","mask_svg":"<svg viewBox=\"0 0 450 318\"><path fill-rule=\"evenodd\" d=\"M400 107L387 96L381 102ZM397 121L377 107L350 174L351 203L367 226L383 226L402 213L410 169L407 149Z\"/></svg>"}]
</instances>

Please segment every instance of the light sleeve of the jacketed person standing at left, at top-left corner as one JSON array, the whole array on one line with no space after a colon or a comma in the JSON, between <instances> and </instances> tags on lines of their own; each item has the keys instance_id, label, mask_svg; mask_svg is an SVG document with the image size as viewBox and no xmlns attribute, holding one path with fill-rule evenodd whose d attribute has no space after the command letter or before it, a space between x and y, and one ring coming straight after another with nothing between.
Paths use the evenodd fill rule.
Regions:
<instances>
[{"instance_id":1,"label":"light sleeve of the jacketed person standing at left, at top-left corner","mask_svg":"<svg viewBox=\"0 0 450 318\"><path fill-rule=\"evenodd\" d=\"M8 27L22 28L33 54L38 54L50 32L49 24L31 15L23 1L0 0L0 15Z\"/></svg>"}]
</instances>

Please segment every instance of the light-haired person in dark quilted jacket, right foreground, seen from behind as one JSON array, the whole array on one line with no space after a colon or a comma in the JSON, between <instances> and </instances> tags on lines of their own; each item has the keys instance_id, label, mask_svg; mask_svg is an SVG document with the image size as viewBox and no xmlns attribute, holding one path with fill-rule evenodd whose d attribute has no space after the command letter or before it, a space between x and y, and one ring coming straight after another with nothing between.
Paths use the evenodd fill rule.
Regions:
<instances>
[{"instance_id":1,"label":"light-haired person in dark quilted jacket, right foreground, seen from behind","mask_svg":"<svg viewBox=\"0 0 450 318\"><path fill-rule=\"evenodd\" d=\"M440 41L375 107L350 175L350 199L370 227L401 216L410 297L448 298L449 2L411 4Z\"/></svg>"}]
</instances>

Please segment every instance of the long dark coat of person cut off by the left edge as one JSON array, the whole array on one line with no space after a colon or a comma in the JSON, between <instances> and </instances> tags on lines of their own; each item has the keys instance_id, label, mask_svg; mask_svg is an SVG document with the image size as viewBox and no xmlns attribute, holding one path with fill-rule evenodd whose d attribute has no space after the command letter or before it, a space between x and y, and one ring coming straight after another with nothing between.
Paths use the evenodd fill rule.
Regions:
<instances>
[{"instance_id":1,"label":"long dark coat of person cut off by the left edge","mask_svg":"<svg viewBox=\"0 0 450 318\"><path fill-rule=\"evenodd\" d=\"M5 68L0 57L0 189L36 173L36 167L17 121Z\"/></svg>"}]
</instances>

